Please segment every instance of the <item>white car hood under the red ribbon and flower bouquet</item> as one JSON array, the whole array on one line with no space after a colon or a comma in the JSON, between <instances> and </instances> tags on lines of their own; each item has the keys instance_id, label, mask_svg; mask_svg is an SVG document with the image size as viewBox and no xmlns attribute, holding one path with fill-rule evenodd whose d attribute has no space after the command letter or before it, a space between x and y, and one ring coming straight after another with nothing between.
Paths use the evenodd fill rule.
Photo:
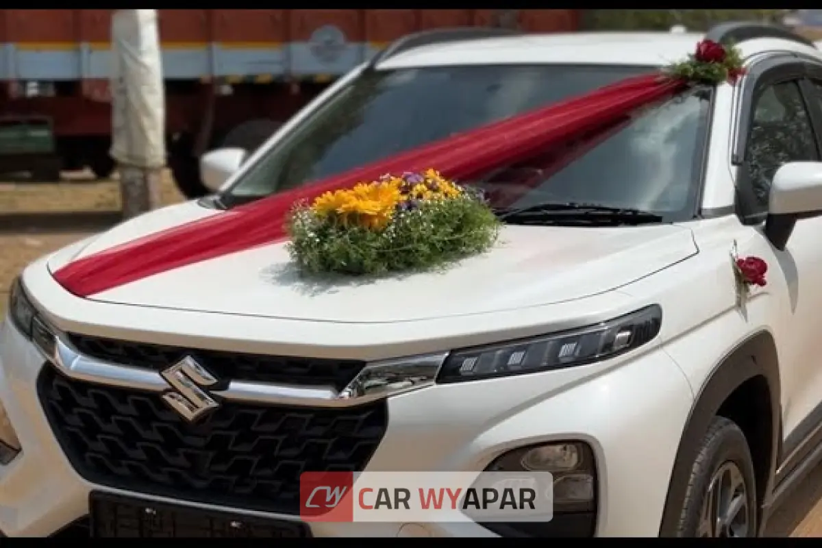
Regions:
<instances>
[{"instance_id":1,"label":"white car hood under the red ribbon and flower bouquet","mask_svg":"<svg viewBox=\"0 0 822 548\"><path fill-rule=\"evenodd\" d=\"M58 252L54 272L186 220L214 214L194 203L145 214ZM219 213L218 213L219 214ZM506 226L491 251L441 272L380 279L302 278L283 243L155 274L89 297L101 302L292 320L386 323L473 315L566 302L611 291L689 256L688 228Z\"/></svg>"}]
</instances>

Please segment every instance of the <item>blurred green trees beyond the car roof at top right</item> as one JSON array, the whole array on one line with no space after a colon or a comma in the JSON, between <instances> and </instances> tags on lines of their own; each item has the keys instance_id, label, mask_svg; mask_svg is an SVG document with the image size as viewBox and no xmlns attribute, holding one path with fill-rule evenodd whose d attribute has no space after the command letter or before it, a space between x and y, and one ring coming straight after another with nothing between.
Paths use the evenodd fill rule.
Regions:
<instances>
[{"instance_id":1,"label":"blurred green trees beyond the car roof at top right","mask_svg":"<svg viewBox=\"0 0 822 548\"><path fill-rule=\"evenodd\" d=\"M723 21L778 23L789 10L584 10L585 30L708 30Z\"/></svg>"}]
</instances>

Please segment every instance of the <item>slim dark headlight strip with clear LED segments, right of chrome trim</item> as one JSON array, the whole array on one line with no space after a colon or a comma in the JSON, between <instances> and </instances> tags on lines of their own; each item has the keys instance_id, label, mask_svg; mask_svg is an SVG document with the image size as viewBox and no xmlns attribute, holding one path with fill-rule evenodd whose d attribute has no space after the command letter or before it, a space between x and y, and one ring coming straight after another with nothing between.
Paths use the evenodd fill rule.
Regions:
<instances>
[{"instance_id":1,"label":"slim dark headlight strip with clear LED segments, right of chrome trim","mask_svg":"<svg viewBox=\"0 0 822 548\"><path fill-rule=\"evenodd\" d=\"M459 382L581 366L616 357L649 343L659 333L657 306L581 329L451 352L437 382Z\"/></svg>"}]
</instances>

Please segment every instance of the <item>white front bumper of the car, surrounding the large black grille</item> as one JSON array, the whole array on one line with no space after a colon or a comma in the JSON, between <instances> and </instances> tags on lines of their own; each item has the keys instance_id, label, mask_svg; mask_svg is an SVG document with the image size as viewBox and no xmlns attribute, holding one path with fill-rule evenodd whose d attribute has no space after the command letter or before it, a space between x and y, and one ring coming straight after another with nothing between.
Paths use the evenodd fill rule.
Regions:
<instances>
[{"instance_id":1,"label":"white front bumper of the car, surrounding the large black grille","mask_svg":"<svg viewBox=\"0 0 822 548\"><path fill-rule=\"evenodd\" d=\"M626 357L630 359L630 357ZM98 486L72 468L35 389L39 352L0 329L0 401L22 453L0 465L0 531L49 536L89 513L92 490L260 518L252 512ZM582 440L598 463L598 536L656 536L672 463L690 412L684 375L664 352L630 363L439 385L388 402L389 425L367 472L480 470L520 445ZM313 536L494 536L473 523L312 523Z\"/></svg>"}]
</instances>

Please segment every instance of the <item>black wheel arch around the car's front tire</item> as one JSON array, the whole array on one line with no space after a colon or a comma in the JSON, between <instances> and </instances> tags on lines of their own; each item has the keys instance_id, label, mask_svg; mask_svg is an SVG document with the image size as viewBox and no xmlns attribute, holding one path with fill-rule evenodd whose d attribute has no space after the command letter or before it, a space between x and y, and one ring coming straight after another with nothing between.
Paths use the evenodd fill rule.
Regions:
<instances>
[{"instance_id":1,"label":"black wheel arch around the car's front tire","mask_svg":"<svg viewBox=\"0 0 822 548\"><path fill-rule=\"evenodd\" d=\"M762 506L767 494L774 488L774 473L781 442L779 363L774 337L765 330L750 335L719 361L697 394L677 449L659 536L676 536L691 466L699 450L700 440L713 417L718 414L725 416L720 410L727 409L726 403L732 401L734 394L743 394L742 390L754 390L755 394L762 394L761 390L766 390L768 399L767 402L760 402L764 408L757 416L765 421L765 424L756 424L761 437L758 440L748 440L749 444L759 444L760 449L764 449L764 454L760 453L758 457L766 458L764 463L755 463L760 532L764 527ZM750 431L746 431L746 437L749 435ZM754 453L753 447L751 453Z\"/></svg>"}]
</instances>

